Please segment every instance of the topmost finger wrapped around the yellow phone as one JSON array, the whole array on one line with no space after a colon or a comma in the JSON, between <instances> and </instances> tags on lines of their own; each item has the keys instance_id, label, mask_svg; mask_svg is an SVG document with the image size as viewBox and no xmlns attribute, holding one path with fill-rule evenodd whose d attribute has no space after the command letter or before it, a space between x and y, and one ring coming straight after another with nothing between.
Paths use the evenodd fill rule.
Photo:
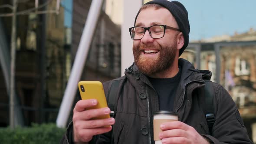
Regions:
<instances>
[{"instance_id":1,"label":"topmost finger wrapped around the yellow phone","mask_svg":"<svg viewBox=\"0 0 256 144\"><path fill-rule=\"evenodd\" d=\"M96 99L87 99L87 100L80 100L77 101L75 104L74 112L75 111L84 111L85 108L89 108L91 106L97 105L98 101Z\"/></svg>"}]
</instances>

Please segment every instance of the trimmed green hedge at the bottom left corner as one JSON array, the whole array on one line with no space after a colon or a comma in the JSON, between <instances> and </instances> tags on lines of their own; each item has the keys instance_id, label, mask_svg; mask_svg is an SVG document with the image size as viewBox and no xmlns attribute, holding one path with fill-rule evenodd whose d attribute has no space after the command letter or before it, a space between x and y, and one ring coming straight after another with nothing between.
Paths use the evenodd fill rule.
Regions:
<instances>
[{"instance_id":1,"label":"trimmed green hedge at the bottom left corner","mask_svg":"<svg viewBox=\"0 0 256 144\"><path fill-rule=\"evenodd\" d=\"M0 128L0 144L59 144L65 129L56 124L32 124L29 128Z\"/></svg>"}]
</instances>

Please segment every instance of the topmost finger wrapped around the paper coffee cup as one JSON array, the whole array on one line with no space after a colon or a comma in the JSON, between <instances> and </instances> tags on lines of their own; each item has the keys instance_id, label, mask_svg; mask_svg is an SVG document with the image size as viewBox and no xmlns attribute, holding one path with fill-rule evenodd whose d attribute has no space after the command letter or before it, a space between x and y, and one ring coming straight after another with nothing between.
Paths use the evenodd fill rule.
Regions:
<instances>
[{"instance_id":1,"label":"topmost finger wrapped around the paper coffee cup","mask_svg":"<svg viewBox=\"0 0 256 144\"><path fill-rule=\"evenodd\" d=\"M184 131L187 131L190 129L190 126L181 121L170 121L170 122L165 122L161 124L160 128L162 131L171 130L171 129L182 129Z\"/></svg>"}]
</instances>

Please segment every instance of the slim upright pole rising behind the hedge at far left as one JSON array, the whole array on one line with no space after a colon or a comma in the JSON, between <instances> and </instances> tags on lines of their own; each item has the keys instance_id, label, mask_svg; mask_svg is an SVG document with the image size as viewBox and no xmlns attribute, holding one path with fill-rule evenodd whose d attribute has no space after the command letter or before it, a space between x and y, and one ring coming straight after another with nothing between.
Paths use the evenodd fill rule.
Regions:
<instances>
[{"instance_id":1,"label":"slim upright pole rising behind the hedge at far left","mask_svg":"<svg viewBox=\"0 0 256 144\"><path fill-rule=\"evenodd\" d=\"M11 38L11 77L10 77L10 127L15 128L14 124L14 96L15 96L15 57L16 57L16 11L18 0L13 0L13 20Z\"/></svg>"}]
</instances>

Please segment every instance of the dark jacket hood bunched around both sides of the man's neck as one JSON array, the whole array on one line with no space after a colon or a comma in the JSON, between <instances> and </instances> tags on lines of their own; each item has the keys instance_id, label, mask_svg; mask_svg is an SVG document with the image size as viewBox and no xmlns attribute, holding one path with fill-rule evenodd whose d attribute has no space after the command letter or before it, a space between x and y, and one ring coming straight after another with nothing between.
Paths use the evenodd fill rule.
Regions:
<instances>
[{"instance_id":1,"label":"dark jacket hood bunched around both sides of the man's neck","mask_svg":"<svg viewBox=\"0 0 256 144\"><path fill-rule=\"evenodd\" d=\"M185 85L187 82L193 80L210 80L211 78L212 73L209 70L195 69L194 65L186 59L179 59L178 65L181 70L181 85ZM147 76L139 72L135 63L133 63L129 68L125 69L125 75L129 81L136 81L138 78L146 79L145 81L148 81Z\"/></svg>"}]
</instances>

